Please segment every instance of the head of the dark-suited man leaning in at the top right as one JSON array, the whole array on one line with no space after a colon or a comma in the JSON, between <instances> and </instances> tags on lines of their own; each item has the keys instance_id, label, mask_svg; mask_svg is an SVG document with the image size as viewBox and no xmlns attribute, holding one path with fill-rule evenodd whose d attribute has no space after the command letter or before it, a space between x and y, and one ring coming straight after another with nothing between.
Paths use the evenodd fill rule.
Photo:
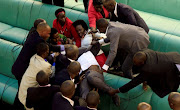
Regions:
<instances>
[{"instance_id":1,"label":"head of the dark-suited man leaning in at the top right","mask_svg":"<svg viewBox=\"0 0 180 110\"><path fill-rule=\"evenodd\" d=\"M103 6L104 6L104 8L106 8L107 11L113 13L115 6L116 6L116 1L115 0L104 0Z\"/></svg>"}]
</instances>

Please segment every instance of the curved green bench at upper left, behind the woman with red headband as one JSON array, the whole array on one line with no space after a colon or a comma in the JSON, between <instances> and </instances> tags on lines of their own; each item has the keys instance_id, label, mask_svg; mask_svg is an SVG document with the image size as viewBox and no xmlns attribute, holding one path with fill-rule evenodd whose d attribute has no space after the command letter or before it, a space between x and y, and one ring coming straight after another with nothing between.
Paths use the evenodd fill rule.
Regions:
<instances>
[{"instance_id":1,"label":"curved green bench at upper left, behind the woman with red headband","mask_svg":"<svg viewBox=\"0 0 180 110\"><path fill-rule=\"evenodd\" d=\"M52 26L56 18L54 12L60 7L42 4L31 0L1 0L0 1L0 38L14 43L23 44L28 30L38 18L43 18ZM72 21L84 20L87 24L86 13L64 8L66 16Z\"/></svg>"}]
</instances>

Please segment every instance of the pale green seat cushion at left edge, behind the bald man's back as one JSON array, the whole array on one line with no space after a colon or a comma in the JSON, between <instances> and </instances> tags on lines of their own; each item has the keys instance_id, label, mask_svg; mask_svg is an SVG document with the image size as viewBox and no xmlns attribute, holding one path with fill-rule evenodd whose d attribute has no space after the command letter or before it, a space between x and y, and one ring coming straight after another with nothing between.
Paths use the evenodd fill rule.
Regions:
<instances>
[{"instance_id":1,"label":"pale green seat cushion at left edge, behind the bald man's back","mask_svg":"<svg viewBox=\"0 0 180 110\"><path fill-rule=\"evenodd\" d=\"M29 31L24 30L22 28L11 28L9 30L6 30L0 34L0 38L18 43L23 44L26 40L26 37L28 35Z\"/></svg>"}]
</instances>

